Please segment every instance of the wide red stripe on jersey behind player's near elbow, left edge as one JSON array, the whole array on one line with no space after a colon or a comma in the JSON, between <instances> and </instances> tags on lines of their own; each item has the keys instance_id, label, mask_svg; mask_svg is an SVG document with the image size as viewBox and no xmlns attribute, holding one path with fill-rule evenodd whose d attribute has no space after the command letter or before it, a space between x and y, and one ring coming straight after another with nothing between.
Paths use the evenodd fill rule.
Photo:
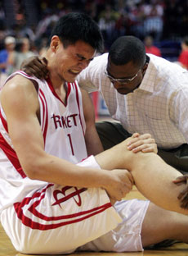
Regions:
<instances>
[{"instance_id":1,"label":"wide red stripe on jersey behind player's near elbow, left edge","mask_svg":"<svg viewBox=\"0 0 188 256\"><path fill-rule=\"evenodd\" d=\"M25 172L22 170L22 167L20 166L20 162L18 160L15 150L12 149L9 144L7 144L7 141L3 138L1 133L0 133L0 148L6 154L11 164L16 168L16 171L19 172L20 176L22 176L22 178L25 178L26 177Z\"/></svg>"}]
</instances>

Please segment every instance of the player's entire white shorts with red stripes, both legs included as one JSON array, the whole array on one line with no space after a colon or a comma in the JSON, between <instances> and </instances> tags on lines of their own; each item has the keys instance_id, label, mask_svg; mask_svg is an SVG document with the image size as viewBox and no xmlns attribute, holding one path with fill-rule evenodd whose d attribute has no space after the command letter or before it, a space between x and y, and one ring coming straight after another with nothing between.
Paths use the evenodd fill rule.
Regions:
<instances>
[{"instance_id":1,"label":"player's entire white shorts with red stripes, both legs included","mask_svg":"<svg viewBox=\"0 0 188 256\"><path fill-rule=\"evenodd\" d=\"M99 168L94 157L78 165ZM105 190L48 184L4 209L1 222L24 254L141 251L141 225L149 203L123 200L112 207Z\"/></svg>"}]
</instances>

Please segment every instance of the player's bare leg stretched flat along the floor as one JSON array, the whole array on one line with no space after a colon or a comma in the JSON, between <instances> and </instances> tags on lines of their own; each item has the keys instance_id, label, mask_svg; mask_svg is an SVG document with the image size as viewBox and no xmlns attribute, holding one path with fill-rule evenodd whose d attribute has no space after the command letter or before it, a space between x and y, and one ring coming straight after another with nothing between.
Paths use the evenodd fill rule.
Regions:
<instances>
[{"instance_id":1,"label":"player's bare leg stretched flat along the floor","mask_svg":"<svg viewBox=\"0 0 188 256\"><path fill-rule=\"evenodd\" d=\"M188 216L150 203L141 227L143 247L169 239L188 243Z\"/></svg>"}]
</instances>

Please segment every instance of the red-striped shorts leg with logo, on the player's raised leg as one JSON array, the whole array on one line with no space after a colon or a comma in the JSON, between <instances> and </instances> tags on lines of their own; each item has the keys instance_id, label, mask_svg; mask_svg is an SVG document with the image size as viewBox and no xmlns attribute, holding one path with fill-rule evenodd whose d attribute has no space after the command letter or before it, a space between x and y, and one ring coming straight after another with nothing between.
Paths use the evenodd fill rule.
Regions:
<instances>
[{"instance_id":1,"label":"red-striped shorts leg with logo, on the player's raised leg","mask_svg":"<svg viewBox=\"0 0 188 256\"><path fill-rule=\"evenodd\" d=\"M100 168L91 156L78 163ZM2 226L24 254L65 254L122 222L105 190L48 184L2 211Z\"/></svg>"}]
</instances>

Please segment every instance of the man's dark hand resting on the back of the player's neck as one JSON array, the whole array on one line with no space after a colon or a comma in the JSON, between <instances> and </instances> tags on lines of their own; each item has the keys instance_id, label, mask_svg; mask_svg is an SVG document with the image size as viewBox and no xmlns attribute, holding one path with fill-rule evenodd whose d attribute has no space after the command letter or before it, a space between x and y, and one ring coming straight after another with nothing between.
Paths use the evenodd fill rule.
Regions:
<instances>
[{"instance_id":1,"label":"man's dark hand resting on the back of the player's neck","mask_svg":"<svg viewBox=\"0 0 188 256\"><path fill-rule=\"evenodd\" d=\"M47 59L45 57L29 57L22 62L21 71L25 71L28 75L34 75L39 79L47 79L49 71L47 70Z\"/></svg>"}]
</instances>

